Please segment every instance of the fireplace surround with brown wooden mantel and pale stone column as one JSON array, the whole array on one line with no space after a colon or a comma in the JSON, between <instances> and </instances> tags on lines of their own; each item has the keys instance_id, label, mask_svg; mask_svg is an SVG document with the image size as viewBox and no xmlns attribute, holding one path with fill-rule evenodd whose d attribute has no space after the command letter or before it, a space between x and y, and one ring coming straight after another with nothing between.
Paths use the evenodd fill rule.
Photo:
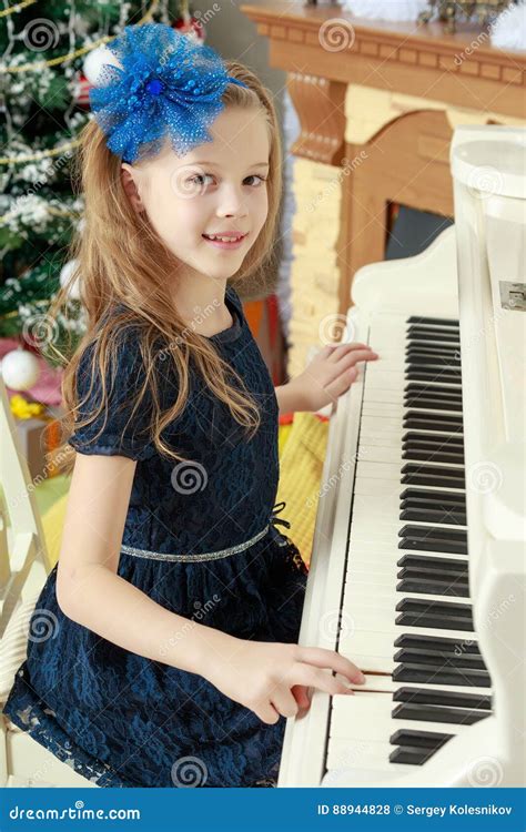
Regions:
<instances>
[{"instance_id":1,"label":"fireplace surround with brown wooden mantel and pale stone column","mask_svg":"<svg viewBox=\"0 0 526 832\"><path fill-rule=\"evenodd\" d=\"M526 123L526 54L495 49L475 23L447 34L437 22L280 0L241 11L269 38L270 65L287 73L301 125L291 148L293 376L320 329L345 316L356 271L384 260L391 207L453 216L454 126Z\"/></svg>"}]
</instances>

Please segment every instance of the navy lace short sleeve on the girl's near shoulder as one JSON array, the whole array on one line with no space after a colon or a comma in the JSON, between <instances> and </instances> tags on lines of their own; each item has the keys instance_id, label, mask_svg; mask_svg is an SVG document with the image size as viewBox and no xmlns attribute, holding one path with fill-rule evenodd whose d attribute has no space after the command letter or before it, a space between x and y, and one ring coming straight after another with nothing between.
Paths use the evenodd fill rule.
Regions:
<instances>
[{"instance_id":1,"label":"navy lace short sleeve on the girl's near shoulder","mask_svg":"<svg viewBox=\"0 0 526 832\"><path fill-rule=\"evenodd\" d=\"M105 405L90 424L75 427L68 439L69 445L81 454L120 455L135 460L152 456L155 448L148 429L152 417L152 398L149 389L139 407L134 409L144 378L145 371L136 333L135 337L130 332L127 336L120 334L117 362L109 362L105 374ZM94 415L102 400L101 374L94 358L93 344L90 344L81 355L77 369L77 393L80 406L77 417L79 422L84 420L88 415Z\"/></svg>"}]
</instances>

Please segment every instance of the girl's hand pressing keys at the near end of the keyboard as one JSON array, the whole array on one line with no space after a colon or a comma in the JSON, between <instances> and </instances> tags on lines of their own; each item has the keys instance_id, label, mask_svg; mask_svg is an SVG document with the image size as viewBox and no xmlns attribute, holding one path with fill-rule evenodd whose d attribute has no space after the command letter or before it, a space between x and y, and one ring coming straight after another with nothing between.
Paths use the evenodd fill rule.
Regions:
<instances>
[{"instance_id":1,"label":"girl's hand pressing keys at the near end of the keyboard","mask_svg":"<svg viewBox=\"0 0 526 832\"><path fill-rule=\"evenodd\" d=\"M352 692L326 669L358 684L365 681L352 661L321 647L232 637L223 645L222 656L215 656L205 678L267 724L277 722L280 716L295 717L299 710L308 708L307 688L331 696Z\"/></svg>"}]
</instances>

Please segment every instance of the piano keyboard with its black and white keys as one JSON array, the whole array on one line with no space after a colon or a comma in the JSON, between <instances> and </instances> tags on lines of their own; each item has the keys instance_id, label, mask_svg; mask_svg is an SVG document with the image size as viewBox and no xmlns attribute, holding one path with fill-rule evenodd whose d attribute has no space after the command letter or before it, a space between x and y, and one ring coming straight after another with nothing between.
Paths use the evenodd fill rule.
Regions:
<instances>
[{"instance_id":1,"label":"piano keyboard with its black and white keys","mask_svg":"<svg viewBox=\"0 0 526 832\"><path fill-rule=\"evenodd\" d=\"M406 770L492 713L469 597L458 321L375 315L342 627L366 674L330 712L325 768Z\"/></svg>"}]
</instances>

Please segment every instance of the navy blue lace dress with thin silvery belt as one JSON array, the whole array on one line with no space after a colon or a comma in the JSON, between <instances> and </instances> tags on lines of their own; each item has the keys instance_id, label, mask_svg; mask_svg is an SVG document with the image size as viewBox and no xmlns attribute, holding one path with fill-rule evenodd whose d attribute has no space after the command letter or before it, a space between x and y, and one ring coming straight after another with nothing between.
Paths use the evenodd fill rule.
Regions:
<instances>
[{"instance_id":1,"label":"navy blue lace dress with thin silvery belt","mask_svg":"<svg viewBox=\"0 0 526 832\"><path fill-rule=\"evenodd\" d=\"M193 621L243 639L292 643L307 570L276 528L290 526L277 517L284 504L274 503L277 402L233 288L225 302L234 325L210 341L260 404L262 423L252 439L198 373L183 414L163 434L191 463L174 465L141 440L140 416L124 430L142 365L136 338L117 334L120 358L104 430L93 443L101 416L70 444L82 454L138 460L120 576ZM88 363L89 351L78 375L82 396ZM174 396L173 379L164 375L164 382L163 395ZM266 724L204 678L75 623L57 603L55 578L57 567L37 601L28 657L3 709L12 722L100 787L275 783L285 718Z\"/></svg>"}]
</instances>

